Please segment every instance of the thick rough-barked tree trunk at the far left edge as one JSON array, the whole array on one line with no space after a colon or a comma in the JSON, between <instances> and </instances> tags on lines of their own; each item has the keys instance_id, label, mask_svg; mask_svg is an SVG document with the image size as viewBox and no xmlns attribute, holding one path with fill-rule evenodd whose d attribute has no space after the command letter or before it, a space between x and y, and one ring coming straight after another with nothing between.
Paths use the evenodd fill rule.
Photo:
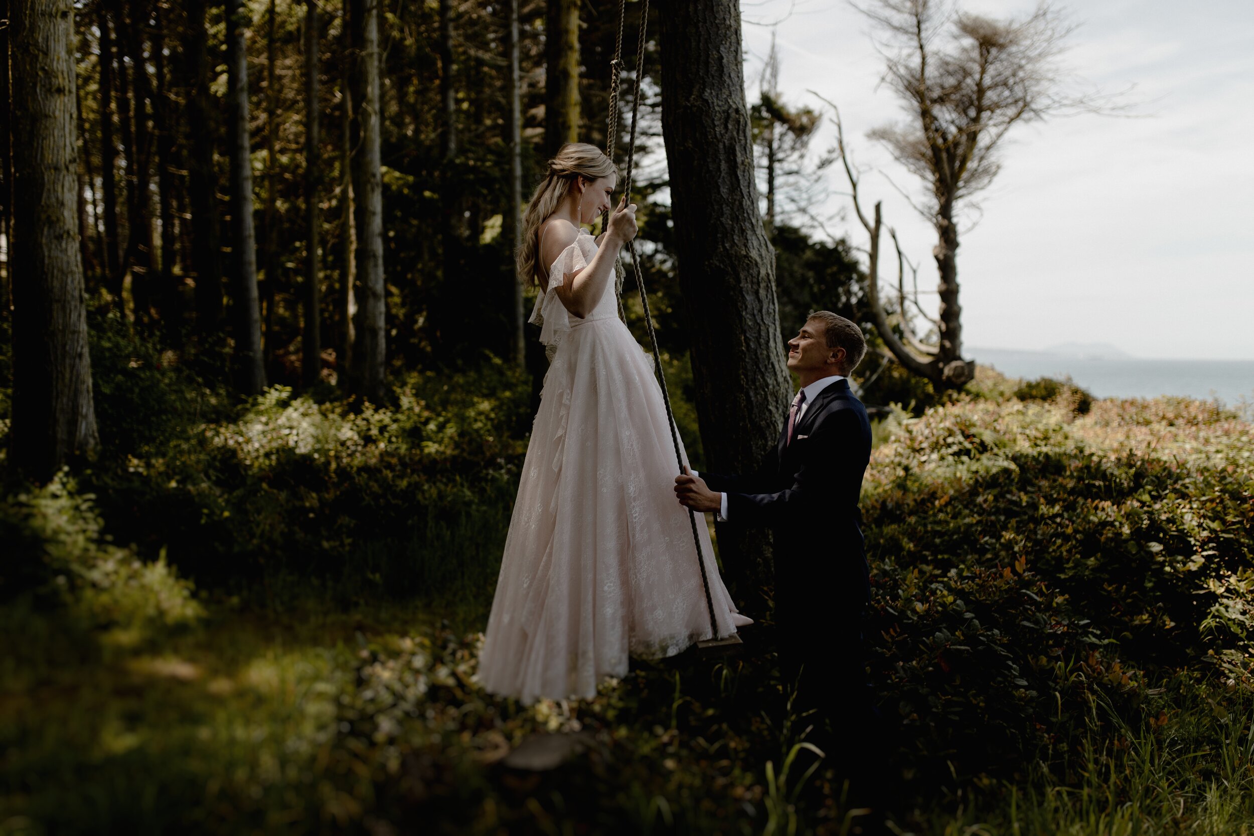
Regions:
<instances>
[{"instance_id":1,"label":"thick rough-barked tree trunk at the far left edge","mask_svg":"<svg viewBox=\"0 0 1254 836\"><path fill-rule=\"evenodd\" d=\"M13 0L14 464L51 476L98 444L75 197L73 0Z\"/></svg>"}]
</instances>

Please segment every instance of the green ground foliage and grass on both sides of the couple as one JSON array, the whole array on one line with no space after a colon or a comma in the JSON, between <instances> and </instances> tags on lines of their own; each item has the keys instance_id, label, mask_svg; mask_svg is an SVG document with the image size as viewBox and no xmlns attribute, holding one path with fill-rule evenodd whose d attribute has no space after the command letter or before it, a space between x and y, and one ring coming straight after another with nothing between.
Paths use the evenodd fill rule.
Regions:
<instances>
[{"instance_id":1,"label":"green ground foliage and grass on both sides of the couple","mask_svg":"<svg viewBox=\"0 0 1254 836\"><path fill-rule=\"evenodd\" d=\"M868 634L895 826L1239 832L1254 430L1213 404L1080 415L1066 392L1011 387L986 377L877 430ZM102 415L139 396L105 387ZM593 701L478 688L520 376L416 376L386 409L282 387L199 397L209 420L137 431L125 464L0 508L5 543L49 568L24 585L15 560L4 572L0 629L21 648L0 694L4 832L865 823L810 768L769 615L744 657L642 664ZM90 574L104 564L124 572ZM587 751L543 775L503 766L556 731Z\"/></svg>"}]
</instances>

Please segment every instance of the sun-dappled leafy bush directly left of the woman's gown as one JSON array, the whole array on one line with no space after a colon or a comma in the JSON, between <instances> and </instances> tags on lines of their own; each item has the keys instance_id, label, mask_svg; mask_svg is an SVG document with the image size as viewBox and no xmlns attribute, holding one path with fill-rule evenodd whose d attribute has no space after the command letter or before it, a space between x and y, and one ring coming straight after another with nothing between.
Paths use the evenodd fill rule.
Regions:
<instances>
[{"instance_id":1,"label":"sun-dappled leafy bush directly left of the woman's gown","mask_svg":"<svg viewBox=\"0 0 1254 836\"><path fill-rule=\"evenodd\" d=\"M495 579L528 394L503 363L406 377L391 409L273 387L87 478L119 538L207 584L456 594Z\"/></svg>"}]
</instances>

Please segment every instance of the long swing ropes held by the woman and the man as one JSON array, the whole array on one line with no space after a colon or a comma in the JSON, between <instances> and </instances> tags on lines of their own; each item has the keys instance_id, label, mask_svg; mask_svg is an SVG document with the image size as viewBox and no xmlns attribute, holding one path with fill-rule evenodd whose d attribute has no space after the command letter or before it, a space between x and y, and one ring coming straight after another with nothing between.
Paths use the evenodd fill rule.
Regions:
<instances>
[{"instance_id":1,"label":"long swing ropes held by the woman and the man","mask_svg":"<svg viewBox=\"0 0 1254 836\"><path fill-rule=\"evenodd\" d=\"M611 73L613 75L613 85L609 91L609 124L608 135L606 139L606 155L613 160L614 158L614 140L618 134L618 88L621 85L621 71L623 70L622 63L622 49L623 49L623 23L627 16L627 0L618 0L618 39L614 44L614 58L609 61ZM645 65L645 26L648 21L648 0L641 1L640 10L640 43L636 50L636 75L633 79L632 89L632 103L631 103L631 133L627 142L627 174L623 178L623 197L626 202L631 203L631 180L633 174L633 168L636 163L636 118L640 113L640 79L641 68ZM675 461L680 468L680 474L683 473L683 454L680 452L680 434L675 424L675 411L671 409L671 395L666 387L666 374L662 371L662 350L657 345L657 331L653 328L653 316L648 310L648 295L645 292L645 280L640 271L640 257L636 254L636 241L627 242L627 249L631 253L631 268L632 276L636 280L636 290L640 291L640 305L645 310L645 325L648 327L648 341L653 347L653 368L657 372L657 381L662 386L662 402L666 405L666 420L671 429L671 444L675 447ZM619 269L618 257L614 257L614 268ZM619 316L622 316L622 292L621 287L618 290L618 310ZM705 520L702 519L702 523ZM692 526L692 543L697 548L697 567L701 569L701 585L705 588L706 594L706 610L710 613L710 633L714 639L721 640L722 637L719 634L719 623L715 620L714 615L714 599L710 595L710 578L706 575L705 567L705 553L701 549L701 536L697 533L697 514L691 508L688 509L688 523Z\"/></svg>"}]
</instances>

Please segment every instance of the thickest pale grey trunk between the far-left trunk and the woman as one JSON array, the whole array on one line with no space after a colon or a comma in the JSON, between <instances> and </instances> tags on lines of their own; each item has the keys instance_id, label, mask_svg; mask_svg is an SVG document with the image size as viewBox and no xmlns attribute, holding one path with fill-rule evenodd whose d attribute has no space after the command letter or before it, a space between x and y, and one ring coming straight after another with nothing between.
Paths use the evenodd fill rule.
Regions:
<instances>
[{"instance_id":1,"label":"thickest pale grey trunk between the far-left trunk and the woman","mask_svg":"<svg viewBox=\"0 0 1254 836\"><path fill-rule=\"evenodd\" d=\"M352 191L357 228L356 345L351 390L370 400L384 396L386 361L384 300L382 178L379 132L379 0L350 0L354 33L357 143L352 155Z\"/></svg>"}]
</instances>

